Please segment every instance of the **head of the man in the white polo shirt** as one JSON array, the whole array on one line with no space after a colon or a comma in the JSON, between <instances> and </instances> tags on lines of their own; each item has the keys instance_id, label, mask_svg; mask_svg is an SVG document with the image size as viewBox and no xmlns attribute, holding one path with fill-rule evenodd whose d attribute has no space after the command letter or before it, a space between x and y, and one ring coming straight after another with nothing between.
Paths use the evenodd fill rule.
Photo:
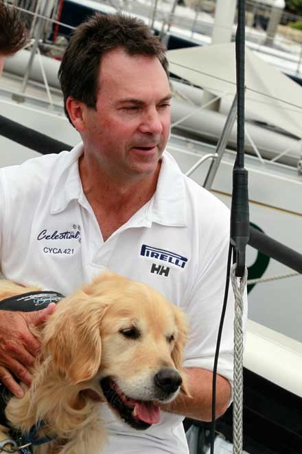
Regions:
<instances>
[{"instance_id":1,"label":"head of the man in the white polo shirt","mask_svg":"<svg viewBox=\"0 0 302 454\"><path fill-rule=\"evenodd\" d=\"M67 116L110 175L154 172L170 133L165 48L139 19L95 14L59 70Z\"/></svg>"}]
</instances>

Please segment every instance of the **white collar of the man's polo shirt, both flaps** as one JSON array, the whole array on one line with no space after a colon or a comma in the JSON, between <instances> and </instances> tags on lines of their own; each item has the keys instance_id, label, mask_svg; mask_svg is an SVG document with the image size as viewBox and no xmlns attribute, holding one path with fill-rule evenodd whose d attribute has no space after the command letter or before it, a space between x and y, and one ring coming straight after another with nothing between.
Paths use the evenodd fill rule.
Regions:
<instances>
[{"instance_id":1,"label":"white collar of the man's polo shirt, both flaps","mask_svg":"<svg viewBox=\"0 0 302 454\"><path fill-rule=\"evenodd\" d=\"M59 171L54 181L55 191L51 203L51 214L65 210L73 199L78 199L83 204L85 196L78 169L78 159L83 151L82 143L76 145L69 152L67 160ZM148 221L158 224L187 226L184 176L176 160L167 151L163 153L159 180L148 204L146 216Z\"/></svg>"}]
</instances>

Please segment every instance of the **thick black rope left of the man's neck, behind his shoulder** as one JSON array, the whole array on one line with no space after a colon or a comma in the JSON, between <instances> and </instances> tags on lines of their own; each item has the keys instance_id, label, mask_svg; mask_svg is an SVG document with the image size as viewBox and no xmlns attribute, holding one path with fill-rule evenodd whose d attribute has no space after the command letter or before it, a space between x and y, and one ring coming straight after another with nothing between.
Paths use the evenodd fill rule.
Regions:
<instances>
[{"instance_id":1,"label":"thick black rope left of the man's neck, behind his shoulder","mask_svg":"<svg viewBox=\"0 0 302 454\"><path fill-rule=\"evenodd\" d=\"M17 142L23 147L31 150L38 151L43 155L49 153L58 153L62 150L70 151L73 147L60 140L53 139L45 134L34 131L34 129L27 128L20 125L9 118L0 115L0 134L1 136Z\"/></svg>"}]
</instances>

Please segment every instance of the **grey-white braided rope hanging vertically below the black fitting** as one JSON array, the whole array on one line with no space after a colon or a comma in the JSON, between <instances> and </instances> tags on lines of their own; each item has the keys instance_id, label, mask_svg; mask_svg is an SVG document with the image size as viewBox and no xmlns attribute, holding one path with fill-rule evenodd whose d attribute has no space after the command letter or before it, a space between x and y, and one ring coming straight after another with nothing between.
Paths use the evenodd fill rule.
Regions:
<instances>
[{"instance_id":1,"label":"grey-white braided rope hanging vertically below the black fitting","mask_svg":"<svg viewBox=\"0 0 302 454\"><path fill-rule=\"evenodd\" d=\"M234 316L234 393L233 393L233 454L242 454L242 400L243 400L243 293L248 277L247 269L238 286L236 263L231 267L231 283L235 295Z\"/></svg>"}]
</instances>

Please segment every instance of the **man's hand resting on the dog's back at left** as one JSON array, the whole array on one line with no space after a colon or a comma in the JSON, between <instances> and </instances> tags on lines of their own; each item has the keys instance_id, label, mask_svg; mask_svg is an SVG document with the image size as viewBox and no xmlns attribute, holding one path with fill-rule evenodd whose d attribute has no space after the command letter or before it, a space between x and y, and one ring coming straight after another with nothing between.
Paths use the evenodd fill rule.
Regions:
<instances>
[{"instance_id":1,"label":"man's hand resting on the dog's back at left","mask_svg":"<svg viewBox=\"0 0 302 454\"><path fill-rule=\"evenodd\" d=\"M23 389L12 374L30 386L32 376L28 369L40 351L40 342L29 327L44 323L55 308L56 304L50 303L45 309L33 312L0 310L0 382L16 397L23 396Z\"/></svg>"}]
</instances>

